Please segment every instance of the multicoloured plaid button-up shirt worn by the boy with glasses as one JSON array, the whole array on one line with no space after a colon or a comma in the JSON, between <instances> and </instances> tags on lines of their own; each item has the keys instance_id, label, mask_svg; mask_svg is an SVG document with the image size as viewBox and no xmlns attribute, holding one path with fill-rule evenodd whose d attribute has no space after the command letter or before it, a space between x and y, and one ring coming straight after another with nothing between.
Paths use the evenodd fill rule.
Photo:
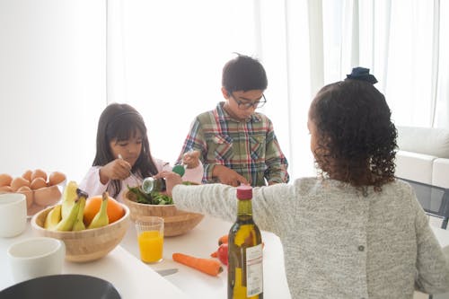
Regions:
<instances>
[{"instance_id":1,"label":"multicoloured plaid button-up shirt worn by the boy with glasses","mask_svg":"<svg viewBox=\"0 0 449 299\"><path fill-rule=\"evenodd\" d=\"M288 182L288 163L282 153L271 120L255 112L250 119L232 119L219 102L215 110L204 112L193 121L178 158L189 150L198 150L204 165L203 183L212 178L215 165L225 165L251 181L264 186L268 182Z\"/></svg>"}]
</instances>

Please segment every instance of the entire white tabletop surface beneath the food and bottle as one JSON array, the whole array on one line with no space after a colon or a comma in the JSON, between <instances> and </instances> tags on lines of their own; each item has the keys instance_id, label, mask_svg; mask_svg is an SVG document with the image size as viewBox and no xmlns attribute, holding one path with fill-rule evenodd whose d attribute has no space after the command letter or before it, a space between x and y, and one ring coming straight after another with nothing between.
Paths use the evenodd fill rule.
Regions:
<instances>
[{"instance_id":1,"label":"entire white tabletop surface beneath the food and bottle","mask_svg":"<svg viewBox=\"0 0 449 299\"><path fill-rule=\"evenodd\" d=\"M131 223L120 245L103 259L90 263L66 262L63 272L101 277L110 281L123 298L224 298L227 287L227 271L211 277L198 270L172 261L173 252L182 252L200 258L216 251L218 238L228 233L231 223L206 216L189 233L166 237L163 261L146 265L139 259L136 230ZM449 231L432 227L442 246L449 245ZM6 250L10 244L34 235L30 225L25 233L15 238L0 238L0 290L13 285L13 277L7 262ZM273 233L262 232L265 243L263 258L264 295L267 298L290 298L286 284L282 245ZM178 273L161 277L154 269L179 268Z\"/></svg>"}]
</instances>

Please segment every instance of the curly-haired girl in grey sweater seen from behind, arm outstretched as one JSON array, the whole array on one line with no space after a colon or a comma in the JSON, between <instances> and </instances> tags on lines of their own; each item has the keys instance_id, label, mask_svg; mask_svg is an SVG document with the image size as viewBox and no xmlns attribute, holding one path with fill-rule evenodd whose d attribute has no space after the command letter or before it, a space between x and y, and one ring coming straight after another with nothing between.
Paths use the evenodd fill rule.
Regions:
<instances>
[{"instance_id":1,"label":"curly-haired girl in grey sweater seen from behind, arm outstretched","mask_svg":"<svg viewBox=\"0 0 449 299\"><path fill-rule=\"evenodd\" d=\"M394 179L396 128L368 71L355 68L323 87L310 106L321 175L253 189L254 221L282 242L292 298L449 291L449 246L439 245L409 184ZM187 188L173 172L158 177L176 207L234 220L235 188Z\"/></svg>"}]
</instances>

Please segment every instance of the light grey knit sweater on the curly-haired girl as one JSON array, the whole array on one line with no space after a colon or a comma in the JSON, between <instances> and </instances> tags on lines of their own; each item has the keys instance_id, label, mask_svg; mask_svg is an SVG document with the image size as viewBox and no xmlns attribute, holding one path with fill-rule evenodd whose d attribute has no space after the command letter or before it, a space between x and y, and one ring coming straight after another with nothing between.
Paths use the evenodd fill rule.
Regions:
<instances>
[{"instance_id":1,"label":"light grey knit sweater on the curly-haired girl","mask_svg":"<svg viewBox=\"0 0 449 299\"><path fill-rule=\"evenodd\" d=\"M236 190L178 185L181 209L233 222ZM254 221L284 248L293 298L412 298L449 290L445 256L408 184L365 196L337 180L305 178L253 189ZM447 252L447 251L446 251Z\"/></svg>"}]
</instances>

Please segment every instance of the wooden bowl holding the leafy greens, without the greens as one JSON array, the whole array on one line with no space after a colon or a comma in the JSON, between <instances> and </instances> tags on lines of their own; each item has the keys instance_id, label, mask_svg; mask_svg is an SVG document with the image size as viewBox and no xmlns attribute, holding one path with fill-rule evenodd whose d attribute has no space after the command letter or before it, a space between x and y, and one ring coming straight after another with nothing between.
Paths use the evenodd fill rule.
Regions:
<instances>
[{"instance_id":1,"label":"wooden bowl holding the leafy greens, without the greens","mask_svg":"<svg viewBox=\"0 0 449 299\"><path fill-rule=\"evenodd\" d=\"M189 232L197 226L204 215L179 210L175 205L148 205L136 202L134 193L127 191L123 202L129 207L132 221L142 217L154 215L163 217L163 235L172 237Z\"/></svg>"}]
</instances>

